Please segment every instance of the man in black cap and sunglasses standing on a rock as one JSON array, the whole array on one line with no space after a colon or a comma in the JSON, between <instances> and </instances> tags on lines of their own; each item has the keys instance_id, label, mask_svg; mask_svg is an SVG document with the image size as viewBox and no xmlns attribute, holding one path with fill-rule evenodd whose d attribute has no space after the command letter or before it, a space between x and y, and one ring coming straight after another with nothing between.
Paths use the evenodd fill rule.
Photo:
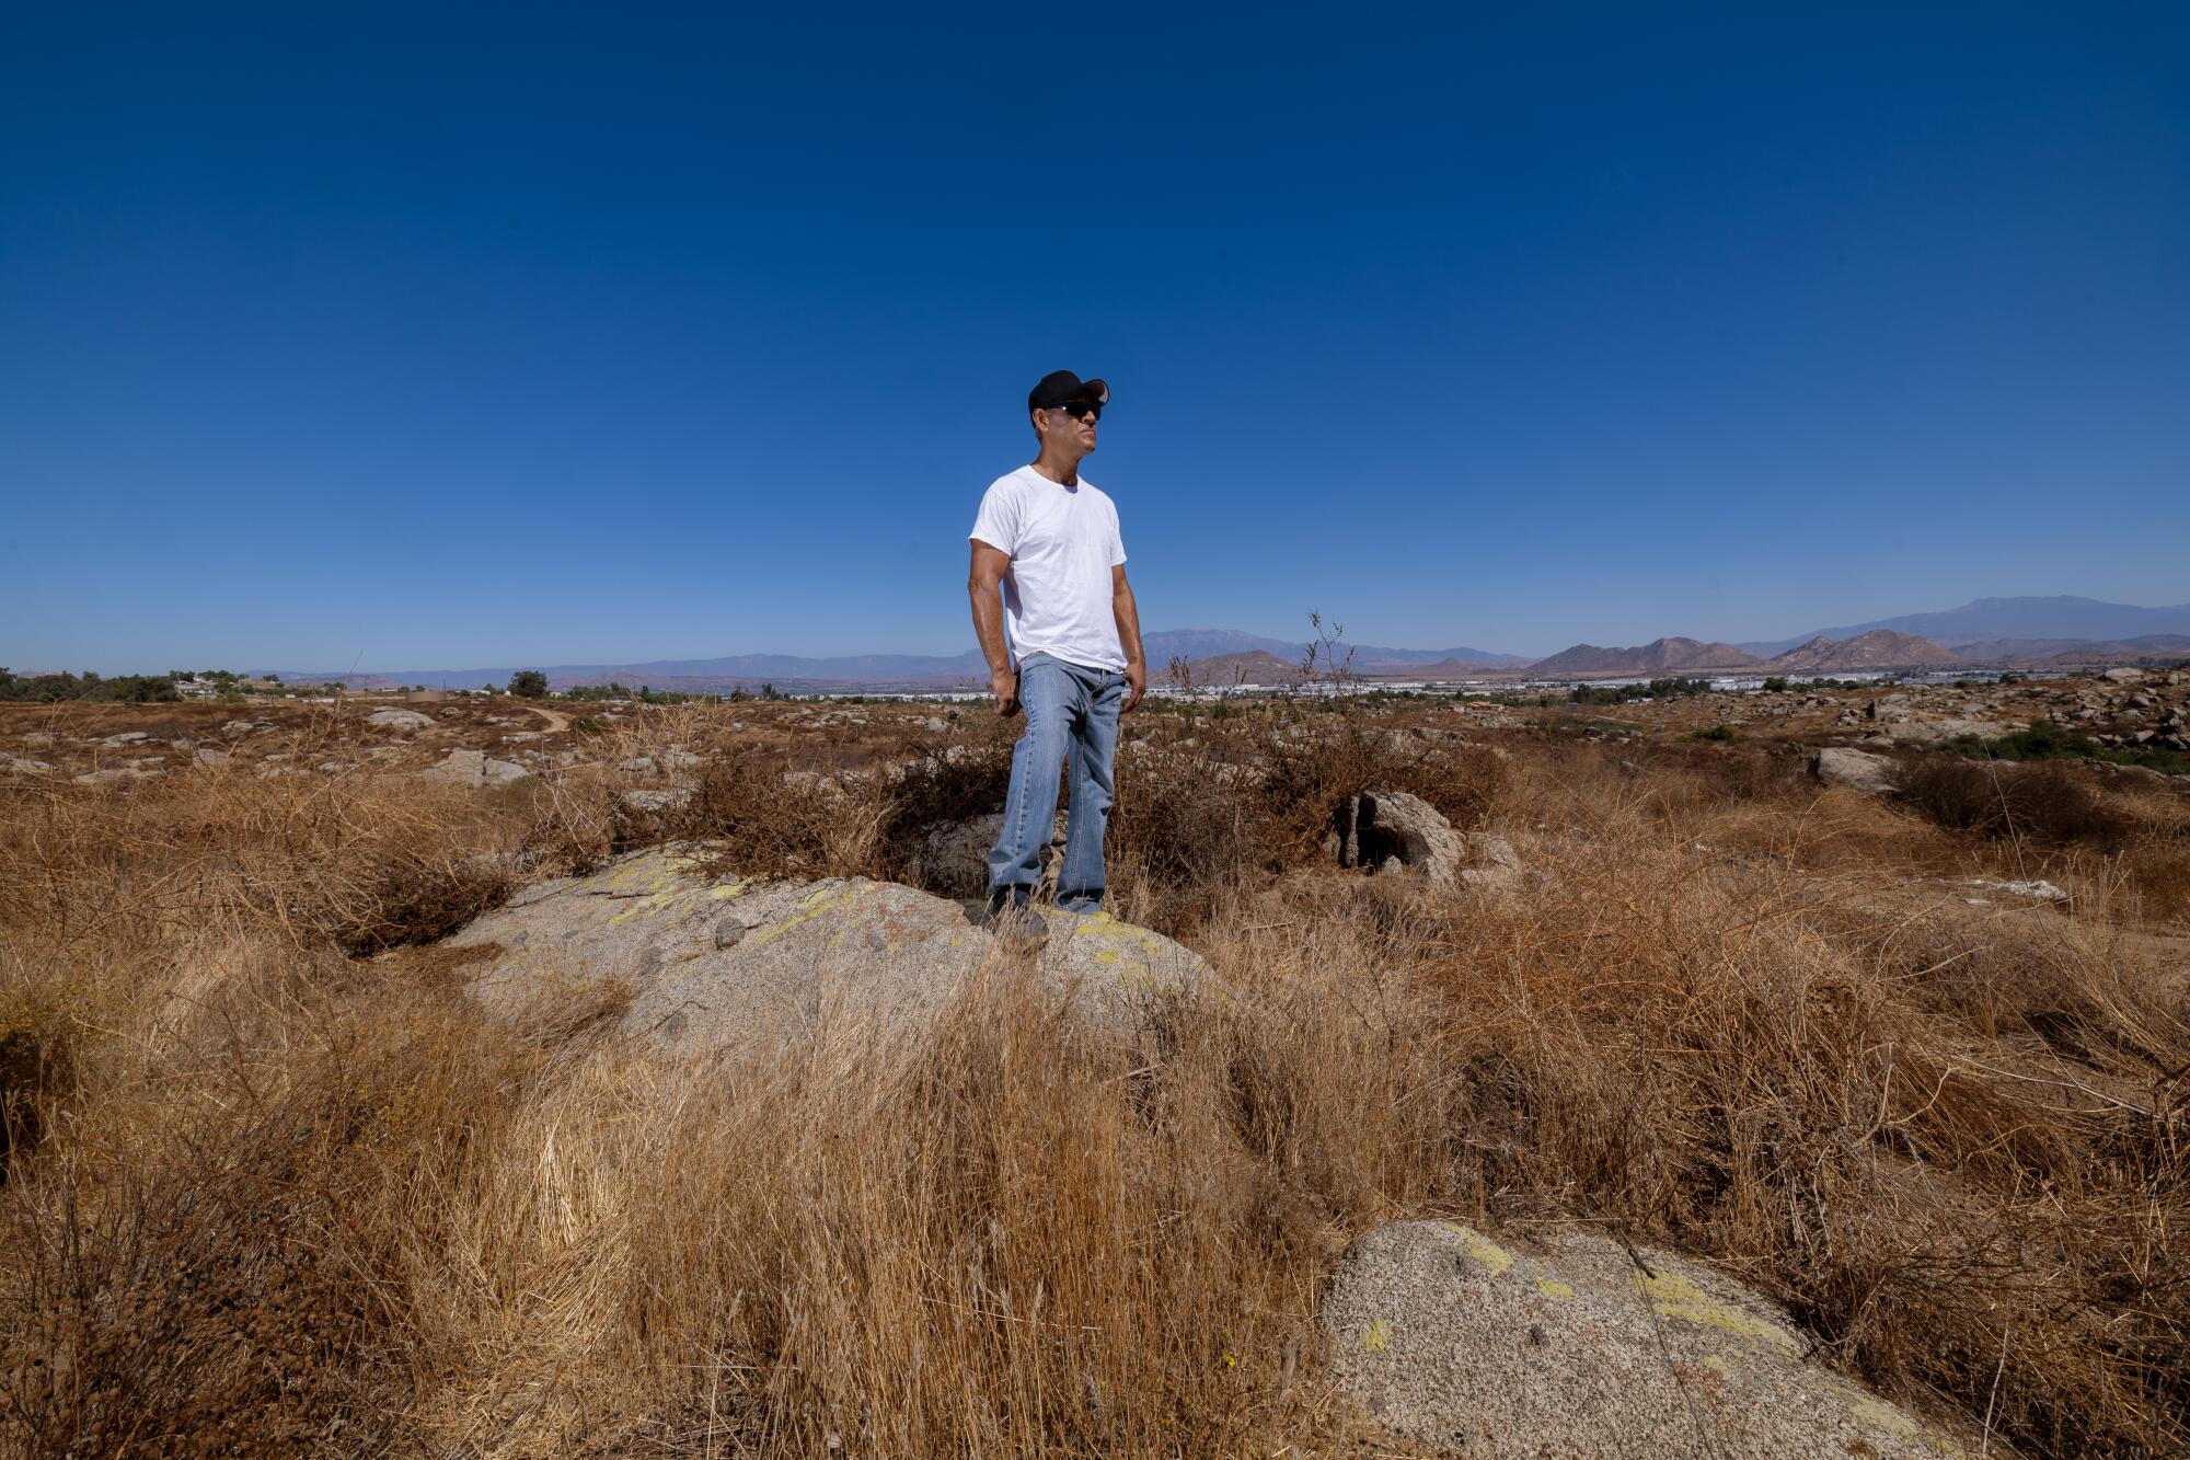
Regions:
<instances>
[{"instance_id":1,"label":"man in black cap and sunglasses standing on a rock","mask_svg":"<svg viewBox=\"0 0 2190 1460\"><path fill-rule=\"evenodd\" d=\"M1082 381L1071 370L1045 375L1027 392L1040 452L990 484L970 533L966 592L996 712L1027 712L1027 732L1012 750L1003 833L988 853L988 925L1029 947L1047 938L1027 903L1042 875L1067 765L1058 905L1102 908L1117 717L1148 691L1141 612L1126 583L1117 506L1080 476L1108 401L1110 388L1099 379Z\"/></svg>"}]
</instances>

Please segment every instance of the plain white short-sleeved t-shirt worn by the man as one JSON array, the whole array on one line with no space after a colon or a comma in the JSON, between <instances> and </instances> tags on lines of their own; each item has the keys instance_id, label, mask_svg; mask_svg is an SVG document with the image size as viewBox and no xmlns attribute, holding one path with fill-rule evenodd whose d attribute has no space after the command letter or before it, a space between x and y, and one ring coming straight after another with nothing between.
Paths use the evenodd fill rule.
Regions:
<instances>
[{"instance_id":1,"label":"plain white short-sleeved t-shirt worn by the man","mask_svg":"<svg viewBox=\"0 0 2190 1460\"><path fill-rule=\"evenodd\" d=\"M968 537L1012 559L1003 574L1012 664L1040 651L1086 669L1126 669L1110 612L1110 570L1126 561L1126 539L1117 506L1091 480L1064 487L1034 467L999 476Z\"/></svg>"}]
</instances>

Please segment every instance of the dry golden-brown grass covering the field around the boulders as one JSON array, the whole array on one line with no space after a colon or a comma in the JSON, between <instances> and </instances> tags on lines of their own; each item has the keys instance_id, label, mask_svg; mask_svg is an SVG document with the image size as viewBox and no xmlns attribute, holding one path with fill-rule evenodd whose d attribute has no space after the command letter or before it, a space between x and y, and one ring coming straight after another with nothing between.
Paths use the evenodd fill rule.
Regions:
<instances>
[{"instance_id":1,"label":"dry golden-brown grass covering the field around the boulders","mask_svg":"<svg viewBox=\"0 0 2190 1460\"><path fill-rule=\"evenodd\" d=\"M699 752L679 829L751 870L891 875L1001 798L990 726L802 758L725 719L604 754ZM996 978L931 1046L666 1065L602 1033L613 980L506 1026L442 949L344 956L598 862L635 780L7 794L11 1453L1345 1451L1318 1289L1424 1210L1713 1256L2030 1453L2190 1445L2164 796L2017 842L1741 745L1156 721L1117 899L1242 997L1132 1037ZM1314 866L1364 785L1548 879ZM2017 870L2070 910L1953 883Z\"/></svg>"}]
</instances>

